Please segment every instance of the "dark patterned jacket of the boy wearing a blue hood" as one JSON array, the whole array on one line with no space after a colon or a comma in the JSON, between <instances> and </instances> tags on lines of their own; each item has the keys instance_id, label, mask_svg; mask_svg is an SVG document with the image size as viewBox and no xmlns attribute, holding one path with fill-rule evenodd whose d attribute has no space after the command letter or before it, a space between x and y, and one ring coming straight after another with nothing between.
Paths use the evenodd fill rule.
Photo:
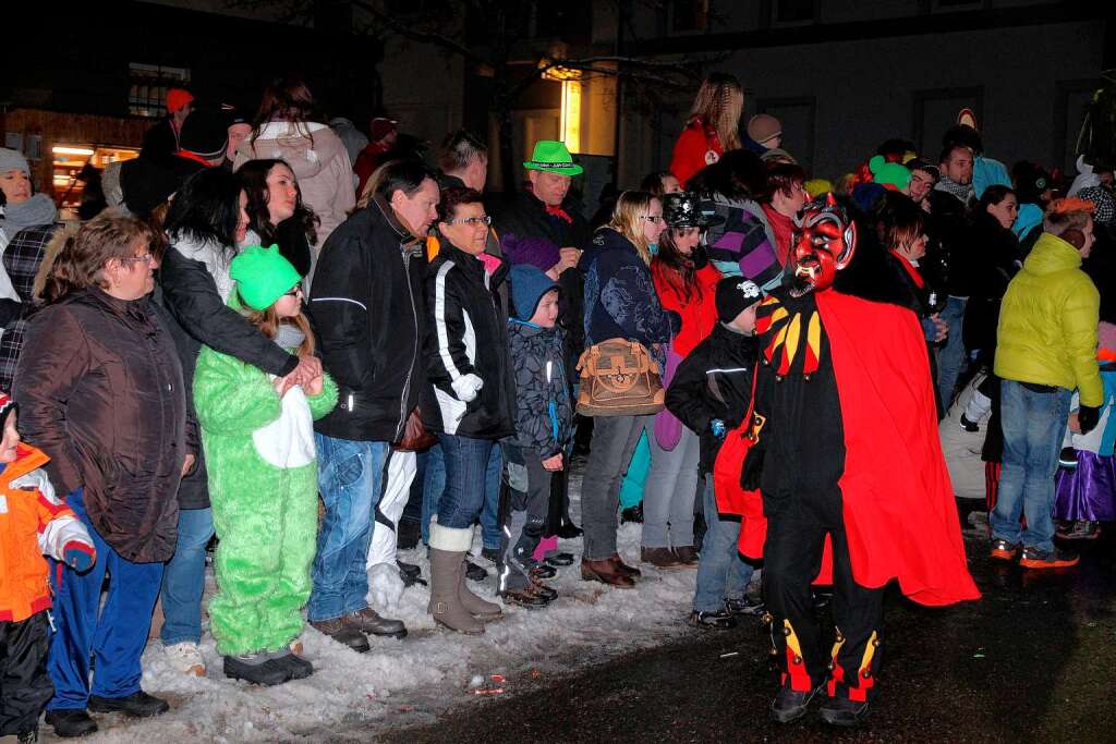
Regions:
<instances>
[{"instance_id":1,"label":"dark patterned jacket of the boy wearing a blue hood","mask_svg":"<svg viewBox=\"0 0 1116 744\"><path fill-rule=\"evenodd\" d=\"M562 363L560 327L508 320L516 370L516 443L547 460L566 450L574 435L574 406Z\"/></svg>"}]
</instances>

